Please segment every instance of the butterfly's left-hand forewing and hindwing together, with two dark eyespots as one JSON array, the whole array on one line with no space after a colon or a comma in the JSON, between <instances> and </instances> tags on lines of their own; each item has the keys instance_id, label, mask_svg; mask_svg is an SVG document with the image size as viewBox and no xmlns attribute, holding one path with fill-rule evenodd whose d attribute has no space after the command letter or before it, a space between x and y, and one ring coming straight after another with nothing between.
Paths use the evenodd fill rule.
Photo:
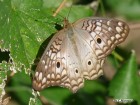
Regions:
<instances>
[{"instance_id":1,"label":"butterfly's left-hand forewing and hindwing together, with two dark eyespots","mask_svg":"<svg viewBox=\"0 0 140 105\"><path fill-rule=\"evenodd\" d=\"M83 86L84 79L80 71L82 68L67 35L73 33L66 32L66 29L58 32L46 48L36 68L33 80L35 90L62 86L76 92Z\"/></svg>"}]
</instances>

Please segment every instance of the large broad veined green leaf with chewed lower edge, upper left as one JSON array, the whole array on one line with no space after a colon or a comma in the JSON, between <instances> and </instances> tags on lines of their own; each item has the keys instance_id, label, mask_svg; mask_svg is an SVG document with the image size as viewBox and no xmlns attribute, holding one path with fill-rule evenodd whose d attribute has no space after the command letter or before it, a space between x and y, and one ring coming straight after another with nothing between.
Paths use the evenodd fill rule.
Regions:
<instances>
[{"instance_id":1,"label":"large broad veined green leaf with chewed lower edge, upper left","mask_svg":"<svg viewBox=\"0 0 140 105\"><path fill-rule=\"evenodd\" d=\"M30 68L40 44L55 32L51 15L41 7L42 0L0 1L0 48L10 51L15 70Z\"/></svg>"}]
</instances>

